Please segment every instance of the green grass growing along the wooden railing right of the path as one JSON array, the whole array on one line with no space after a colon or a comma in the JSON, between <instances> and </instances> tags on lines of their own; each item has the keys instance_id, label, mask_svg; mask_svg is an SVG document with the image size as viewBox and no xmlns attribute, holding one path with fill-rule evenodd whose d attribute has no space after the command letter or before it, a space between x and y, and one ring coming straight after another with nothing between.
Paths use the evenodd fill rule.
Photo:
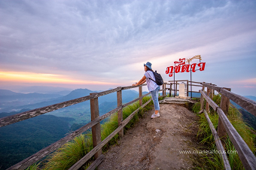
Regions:
<instances>
[{"instance_id":1,"label":"green grass growing along the wooden railing right of the path","mask_svg":"<svg viewBox=\"0 0 256 170\"><path fill-rule=\"evenodd\" d=\"M220 105L221 102L221 96L216 95L212 99L217 105ZM198 113L200 111L200 103L196 103L194 107L192 108L192 111L194 113ZM214 137L212 135L211 129L209 128L209 125L207 123L207 120L204 116L204 114L197 114L200 117L199 120L199 130L197 132L197 138L200 140L200 143L206 146L204 149L206 150L217 150L215 146ZM213 126L215 126L215 129L218 129L218 114L213 111L213 109L210 107L210 113L209 118L212 121ZM248 147L251 149L251 151L255 154L256 148L255 148L255 132L253 132L246 123L242 120L242 115L239 113L239 111L233 107L233 105L230 105L229 112L227 115L227 118L230 120L230 123L232 123L233 127L236 129L236 131L241 135L243 140L246 144L248 144ZM230 141L230 138L228 136L227 139L224 141L225 143L225 150L226 152L228 150L236 150L235 147L233 147L232 142ZM227 157L230 162L230 167L232 169L244 169L242 162L239 159L239 156L237 153L227 153ZM199 169L224 169L222 160L218 153L203 155L201 158L200 164L197 164Z\"/></svg>"}]
</instances>

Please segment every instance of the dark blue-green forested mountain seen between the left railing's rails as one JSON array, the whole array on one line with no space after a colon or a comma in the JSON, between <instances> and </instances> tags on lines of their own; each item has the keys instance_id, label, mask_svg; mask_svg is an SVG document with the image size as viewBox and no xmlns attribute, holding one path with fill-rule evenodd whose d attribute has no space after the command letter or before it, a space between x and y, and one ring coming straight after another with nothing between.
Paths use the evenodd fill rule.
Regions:
<instances>
[{"instance_id":1,"label":"dark blue-green forested mountain seen between the left railing's rails","mask_svg":"<svg viewBox=\"0 0 256 170\"><path fill-rule=\"evenodd\" d=\"M8 113L1 113L2 114ZM14 113L13 113L14 114ZM71 118L41 115L0 128L0 169L26 159L69 133Z\"/></svg>"}]
</instances>

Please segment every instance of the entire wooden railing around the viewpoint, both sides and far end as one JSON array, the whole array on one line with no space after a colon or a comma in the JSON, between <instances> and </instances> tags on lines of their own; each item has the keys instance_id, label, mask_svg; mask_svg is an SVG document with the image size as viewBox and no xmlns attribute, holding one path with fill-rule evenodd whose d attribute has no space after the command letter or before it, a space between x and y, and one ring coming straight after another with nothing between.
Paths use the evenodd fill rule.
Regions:
<instances>
[{"instance_id":1,"label":"entire wooden railing around the viewpoint, both sides and far end","mask_svg":"<svg viewBox=\"0 0 256 170\"><path fill-rule=\"evenodd\" d=\"M189 83L191 83L188 80L175 80L175 95L177 93L177 84L178 81L185 81L187 82L187 86ZM171 81L170 81L171 82ZM199 82L192 82L192 83L199 83ZM172 84L174 83L164 83L162 87L163 95L159 97L166 96L166 90L169 90L170 94L172 94ZM142 99L145 96L148 96L150 93L147 93L142 96L142 87L146 84L140 85L139 87L139 98L134 99L131 102L128 102L123 105L122 103L122 90L128 90L133 89L136 87L117 87L113 90L107 90L101 93L91 93L90 96L84 96L79 99L73 99L67 102L58 103L55 105L49 105L43 108L37 108L31 111L26 111L20 114L15 114L9 117L3 117L0 119L0 127L2 126L8 126L12 123L17 123L22 120L27 120L32 117L39 116L41 114L46 114L50 111L56 111L59 108L65 108L70 105L75 105L81 102L85 102L87 100L90 100L90 110L91 110L91 122L87 123L86 125L82 126L80 129L77 129L75 132L72 132L71 134L67 135L64 138L61 138L59 141L56 141L53 144L50 144L50 146L45 147L44 149L38 151L38 153L33 154L32 156L29 156L28 158L24 159L23 161L17 163L16 165L11 166L8 169L24 169L29 167L29 165L32 165L35 162L38 162L40 159L44 158L44 156L49 155L54 150L61 147L63 144L66 144L69 141L72 141L76 136L81 135L81 133L87 131L87 129L92 128L92 135L93 135L93 150L90 150L87 155L85 155L82 159L80 159L75 165L73 165L69 169L78 169L81 167L81 165L84 165L85 162L87 162L88 159L90 159L92 156L96 157L96 161L94 161L88 169L94 169L96 166L99 165L100 162L102 162L102 159L104 158L102 155L102 147L108 143L108 141L111 140L111 138L114 137L118 133L120 137L123 137L123 127L126 126L127 123L130 122L130 120L133 118L133 116L139 111L139 109L144 108L145 105L148 105L149 102L151 102L151 99L148 100L144 105L142 105ZM169 85L170 88L166 88L166 85ZM221 88L216 87L216 85L212 85L210 83L199 83L199 85L194 84L193 86L197 87L203 87L203 90L199 90L201 93L201 113L204 112L206 116L206 120L209 122L209 126L212 130L212 134L215 138L215 144L218 148L218 150L221 150L221 158L224 160L224 167L226 169L230 169L230 165L227 159L226 154L224 154L224 147L221 144L220 138L222 138L226 133L229 135L230 140L232 141L234 147L236 150L238 150L239 158L242 161L242 164L244 165L245 169L256 169L256 158L254 154L251 152L251 150L248 148L247 144L245 144L245 141L242 140L241 136L236 132L236 129L233 128L230 121L227 119L226 115L228 111L228 105L230 99L233 102L236 102L236 104L240 105L242 108L245 108L246 111L250 112L254 116L256 116L256 102L251 101L250 99L246 99L242 96L236 95L234 93L230 92L230 89L228 88ZM207 94L204 92L205 87L207 87ZM212 96L214 93L214 90L216 90L218 93L221 94L221 106L220 108L218 105L215 104L215 102L212 101ZM117 108L114 108L112 111L109 111L108 113L102 115L99 117L99 104L98 104L98 98L100 96L105 96L110 93L117 92ZM187 96L188 96L188 87L187 87ZM191 92L192 93L192 92ZM203 102L204 99L206 99L206 110L203 108ZM129 117L127 117L125 120L123 120L123 112L122 109L128 105L133 104L134 102L137 102L139 100L140 108L138 108L136 111L134 111L132 114L130 114ZM218 120L218 132L215 130L214 126L212 125L211 120L209 119L208 113L209 112L209 105L218 113L219 120ZM107 138L105 138L103 141L101 141L100 136L100 121L104 120L106 117L109 117L111 114L114 114L117 112L118 115L118 127L114 130L114 132L111 133L111 135L108 135ZM222 152L223 151L223 152Z\"/></svg>"}]
</instances>

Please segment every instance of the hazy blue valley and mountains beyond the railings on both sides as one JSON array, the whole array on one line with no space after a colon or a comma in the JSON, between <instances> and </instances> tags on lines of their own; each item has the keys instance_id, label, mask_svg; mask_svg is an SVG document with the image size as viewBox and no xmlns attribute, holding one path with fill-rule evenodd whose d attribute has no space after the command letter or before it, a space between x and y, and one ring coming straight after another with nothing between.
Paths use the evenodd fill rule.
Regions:
<instances>
[{"instance_id":1,"label":"hazy blue valley and mountains beyond the railings on both sides","mask_svg":"<svg viewBox=\"0 0 256 170\"><path fill-rule=\"evenodd\" d=\"M24 91L27 93L15 93L11 90L0 90L0 117L7 117L23 111L77 99L88 96L90 93L96 93L96 91L87 89L59 91L52 89L51 93L36 87L34 87L34 90L37 91L29 93L29 89L27 89ZM193 96L197 97L198 95L199 94L193 94ZM134 90L123 90L123 103L130 102L138 96L139 93ZM256 97L254 96L245 97L256 101ZM233 102L231 103L235 105ZM238 105L235 106L239 108L244 120L256 129L256 118ZM99 97L100 115L116 107L116 93ZM20 162L88 122L90 122L90 101L0 128L0 159L2 160L0 169L8 168Z\"/></svg>"}]
</instances>

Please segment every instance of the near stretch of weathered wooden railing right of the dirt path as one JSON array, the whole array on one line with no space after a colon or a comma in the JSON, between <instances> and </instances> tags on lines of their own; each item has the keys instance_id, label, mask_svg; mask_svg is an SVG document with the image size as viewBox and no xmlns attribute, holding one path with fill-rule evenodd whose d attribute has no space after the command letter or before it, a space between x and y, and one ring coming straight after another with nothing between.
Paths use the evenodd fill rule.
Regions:
<instances>
[{"instance_id":1,"label":"near stretch of weathered wooden railing right of the dirt path","mask_svg":"<svg viewBox=\"0 0 256 170\"><path fill-rule=\"evenodd\" d=\"M256 102L239 96L235 93L231 93L229 88L216 87L215 85L209 83L202 83L202 85L203 89L199 90L201 93L200 113L204 112L206 120L209 123L210 129L212 130L212 134L215 138L216 147L218 150L220 150L220 156L223 159L224 168L231 169L220 138L224 138L226 135L228 135L230 141L238 152L239 158L241 159L244 168L256 169L256 157L254 156L254 153L251 152L248 145L245 143L239 133L236 132L236 129L233 127L233 125L230 123L226 116L228 113L230 99L233 102L236 102L237 105L240 105L246 111L253 114L254 117L256 117ZM205 87L207 87L207 93L204 92ZM212 94L214 93L214 90L221 94L220 107L218 107L218 105L212 101ZM204 109L204 99L206 99L206 110ZM213 108L214 111L218 113L218 132L216 132L215 127L212 125L212 122L209 119L209 105Z\"/></svg>"}]
</instances>

